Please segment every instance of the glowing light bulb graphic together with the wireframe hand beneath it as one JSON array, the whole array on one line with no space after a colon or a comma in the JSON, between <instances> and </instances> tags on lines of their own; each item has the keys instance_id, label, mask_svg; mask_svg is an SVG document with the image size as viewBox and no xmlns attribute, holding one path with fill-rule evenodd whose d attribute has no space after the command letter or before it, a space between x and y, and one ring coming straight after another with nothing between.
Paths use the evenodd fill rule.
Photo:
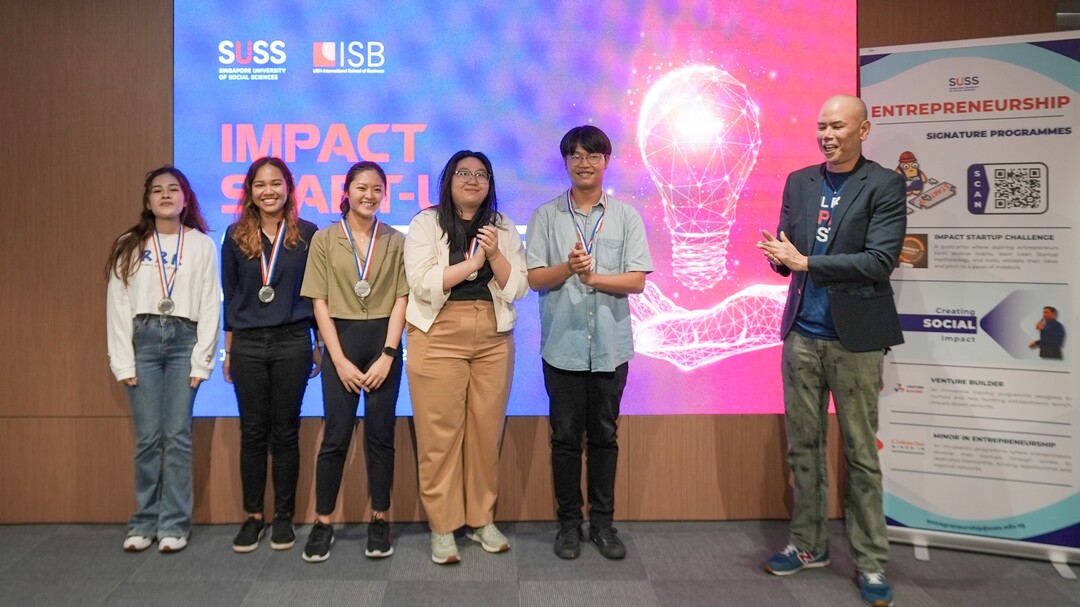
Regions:
<instances>
[{"instance_id":1,"label":"glowing light bulb graphic together with the wireframe hand beneath it","mask_svg":"<svg viewBox=\"0 0 1080 607\"><path fill-rule=\"evenodd\" d=\"M735 203L761 146L746 87L711 66L675 70L646 94L637 143L660 191L672 273L705 291L725 278ZM707 309L678 306L654 283L630 298L634 350L692 370L780 343L786 285L752 284Z\"/></svg>"}]
</instances>

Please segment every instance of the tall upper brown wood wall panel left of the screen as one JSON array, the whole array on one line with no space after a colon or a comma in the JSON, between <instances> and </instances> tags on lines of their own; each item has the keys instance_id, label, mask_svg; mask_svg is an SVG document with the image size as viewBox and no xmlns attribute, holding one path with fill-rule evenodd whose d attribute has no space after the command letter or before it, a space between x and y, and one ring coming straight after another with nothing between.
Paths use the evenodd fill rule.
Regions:
<instances>
[{"instance_id":1,"label":"tall upper brown wood wall panel left of the screen","mask_svg":"<svg viewBox=\"0 0 1080 607\"><path fill-rule=\"evenodd\" d=\"M172 27L162 0L0 3L0 415L125 415L103 268L172 158Z\"/></svg>"}]
</instances>

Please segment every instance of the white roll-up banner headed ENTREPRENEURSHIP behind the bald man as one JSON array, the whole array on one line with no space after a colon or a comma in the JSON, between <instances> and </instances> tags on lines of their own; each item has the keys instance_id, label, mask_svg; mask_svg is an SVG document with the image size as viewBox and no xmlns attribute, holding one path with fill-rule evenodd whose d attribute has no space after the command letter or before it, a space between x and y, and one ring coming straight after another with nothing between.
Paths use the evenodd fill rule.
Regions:
<instances>
[{"instance_id":1,"label":"white roll-up banner headed ENTREPRENEURSHIP behind the bald man","mask_svg":"<svg viewBox=\"0 0 1080 607\"><path fill-rule=\"evenodd\" d=\"M907 187L894 541L1080 562L1078 60L1077 32L861 51L865 153Z\"/></svg>"}]
</instances>

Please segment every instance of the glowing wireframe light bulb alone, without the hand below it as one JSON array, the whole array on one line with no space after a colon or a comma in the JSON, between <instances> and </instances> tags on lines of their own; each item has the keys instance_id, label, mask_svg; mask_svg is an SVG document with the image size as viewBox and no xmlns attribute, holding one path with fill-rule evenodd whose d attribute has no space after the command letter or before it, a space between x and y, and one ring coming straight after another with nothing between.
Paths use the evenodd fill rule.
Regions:
<instances>
[{"instance_id":1,"label":"glowing wireframe light bulb alone, without the hand below it","mask_svg":"<svg viewBox=\"0 0 1080 607\"><path fill-rule=\"evenodd\" d=\"M677 69L646 95L637 144L663 199L673 273L705 291L727 273L735 203L761 145L757 106L723 69Z\"/></svg>"}]
</instances>

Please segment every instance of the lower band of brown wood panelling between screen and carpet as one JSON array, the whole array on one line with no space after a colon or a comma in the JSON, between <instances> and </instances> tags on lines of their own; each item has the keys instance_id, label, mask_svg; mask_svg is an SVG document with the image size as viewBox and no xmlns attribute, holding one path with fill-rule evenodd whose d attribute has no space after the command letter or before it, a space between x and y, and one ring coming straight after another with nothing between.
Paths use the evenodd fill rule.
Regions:
<instances>
[{"instance_id":1,"label":"lower band of brown wood panelling between screen and carpet","mask_svg":"<svg viewBox=\"0 0 1080 607\"><path fill-rule=\"evenodd\" d=\"M423 521L417 489L413 420L400 419L390 517ZM835 423L829 476L837 487ZM0 523L120 523L133 503L134 435L131 419L0 417ZM357 423L334 520L370 516ZM617 516L622 520L783 518L791 490L783 462L783 418L779 416L625 417L620 429ZM554 518L548 420L507 421L500 468L499 521ZM315 457L322 421L300 428L297 521L314 518ZM51 448L43 449L42 445ZM243 520L240 490L240 424L235 418L197 419L192 435L197 523ZM584 489L584 483L582 483ZM273 497L268 484L267 513ZM834 505L832 515L839 515Z\"/></svg>"}]
</instances>

